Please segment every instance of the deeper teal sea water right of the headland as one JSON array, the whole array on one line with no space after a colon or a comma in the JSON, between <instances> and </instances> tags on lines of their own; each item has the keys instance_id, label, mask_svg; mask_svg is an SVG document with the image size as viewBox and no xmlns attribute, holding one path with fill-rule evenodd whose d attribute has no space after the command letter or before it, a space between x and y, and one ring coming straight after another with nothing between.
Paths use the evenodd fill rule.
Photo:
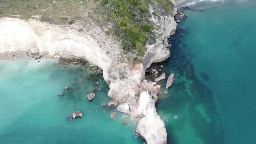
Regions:
<instances>
[{"instance_id":1,"label":"deeper teal sea water right of the headland","mask_svg":"<svg viewBox=\"0 0 256 144\"><path fill-rule=\"evenodd\" d=\"M168 143L255 144L256 3L191 8L170 41L171 58L160 63L175 73L157 104Z\"/></svg>"}]
</instances>

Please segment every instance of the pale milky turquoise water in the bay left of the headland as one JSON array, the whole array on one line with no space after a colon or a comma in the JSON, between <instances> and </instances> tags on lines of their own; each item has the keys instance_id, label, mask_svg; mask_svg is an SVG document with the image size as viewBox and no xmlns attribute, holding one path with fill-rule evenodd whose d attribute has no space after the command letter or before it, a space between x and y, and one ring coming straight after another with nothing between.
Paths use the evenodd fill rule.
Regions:
<instances>
[{"instance_id":1,"label":"pale milky turquoise water in the bay left of the headland","mask_svg":"<svg viewBox=\"0 0 256 144\"><path fill-rule=\"evenodd\" d=\"M99 81L102 92L87 94ZM64 87L71 90L64 91ZM105 111L108 85L100 75L55 61L0 61L0 143L143 143L133 135L136 124L113 110ZM65 95L59 97L63 92ZM84 117L67 120L77 110ZM127 123L127 125L124 125Z\"/></svg>"}]
</instances>

